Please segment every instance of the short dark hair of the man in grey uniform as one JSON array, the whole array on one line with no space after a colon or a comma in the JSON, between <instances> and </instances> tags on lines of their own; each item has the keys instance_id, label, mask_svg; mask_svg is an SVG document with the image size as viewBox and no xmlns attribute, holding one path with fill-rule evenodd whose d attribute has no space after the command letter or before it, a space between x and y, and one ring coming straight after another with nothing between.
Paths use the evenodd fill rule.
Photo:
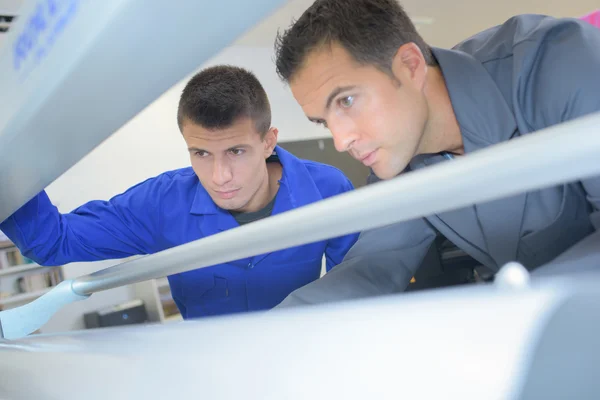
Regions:
<instances>
[{"instance_id":1,"label":"short dark hair of the man in grey uniform","mask_svg":"<svg viewBox=\"0 0 600 400\"><path fill-rule=\"evenodd\" d=\"M437 65L431 47L396 0L317 0L283 35L277 33L277 74L289 83L311 51L335 43L358 63L391 73L396 51L410 42L428 65Z\"/></svg>"}]
</instances>

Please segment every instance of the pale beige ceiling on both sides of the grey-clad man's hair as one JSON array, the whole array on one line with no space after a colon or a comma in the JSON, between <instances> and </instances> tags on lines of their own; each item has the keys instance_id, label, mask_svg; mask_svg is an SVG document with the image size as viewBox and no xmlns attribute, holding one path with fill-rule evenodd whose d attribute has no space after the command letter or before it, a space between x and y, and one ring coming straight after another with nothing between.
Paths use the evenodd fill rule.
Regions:
<instances>
[{"instance_id":1,"label":"pale beige ceiling on both sides of the grey-clad man's hair","mask_svg":"<svg viewBox=\"0 0 600 400\"><path fill-rule=\"evenodd\" d=\"M352 0L348 0L350 4ZM277 29L285 29L313 0L291 0L236 44L273 46ZM504 22L516 14L537 13L555 17L579 17L600 8L599 0L401 0L416 20L424 39L436 47L452 47L467 37ZM431 19L431 24L418 23Z\"/></svg>"}]
</instances>

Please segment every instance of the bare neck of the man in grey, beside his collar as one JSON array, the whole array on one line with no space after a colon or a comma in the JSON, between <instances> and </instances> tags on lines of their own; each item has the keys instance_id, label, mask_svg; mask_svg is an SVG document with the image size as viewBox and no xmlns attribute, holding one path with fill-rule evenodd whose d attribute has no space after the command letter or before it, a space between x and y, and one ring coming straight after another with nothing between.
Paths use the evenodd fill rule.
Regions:
<instances>
[{"instance_id":1,"label":"bare neck of the man in grey, beside his collar","mask_svg":"<svg viewBox=\"0 0 600 400\"><path fill-rule=\"evenodd\" d=\"M418 154L436 154L449 152L463 154L464 147L460 125L456 120L448 88L439 68L430 68L425 90L429 117Z\"/></svg>"}]
</instances>

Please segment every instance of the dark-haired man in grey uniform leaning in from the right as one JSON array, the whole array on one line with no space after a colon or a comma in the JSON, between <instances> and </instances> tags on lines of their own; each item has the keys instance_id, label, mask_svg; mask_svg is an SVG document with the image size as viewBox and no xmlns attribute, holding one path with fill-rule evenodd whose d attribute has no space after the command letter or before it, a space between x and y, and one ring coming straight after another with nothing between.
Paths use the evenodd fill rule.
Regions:
<instances>
[{"instance_id":1,"label":"dark-haired man in grey uniform leaning in from the right","mask_svg":"<svg viewBox=\"0 0 600 400\"><path fill-rule=\"evenodd\" d=\"M600 111L600 30L576 19L521 15L446 50L395 0L317 0L276 51L307 117L381 179ZM599 209L596 177L363 232L281 306L403 291L437 232L492 271L597 251Z\"/></svg>"}]
</instances>

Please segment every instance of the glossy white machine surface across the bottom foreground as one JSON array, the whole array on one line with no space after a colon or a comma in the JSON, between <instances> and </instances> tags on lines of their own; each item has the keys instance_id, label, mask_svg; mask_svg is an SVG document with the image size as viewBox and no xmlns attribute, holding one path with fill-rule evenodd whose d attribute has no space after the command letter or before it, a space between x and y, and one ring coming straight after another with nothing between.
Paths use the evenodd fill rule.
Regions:
<instances>
[{"instance_id":1,"label":"glossy white machine surface across the bottom foreground","mask_svg":"<svg viewBox=\"0 0 600 400\"><path fill-rule=\"evenodd\" d=\"M565 371L600 356L581 336L600 334L598 304L594 275L30 336L0 342L0 397L517 399L542 374L536 398L590 398L597 379ZM581 345L578 365L563 360ZM562 380L533 370L540 357Z\"/></svg>"}]
</instances>

